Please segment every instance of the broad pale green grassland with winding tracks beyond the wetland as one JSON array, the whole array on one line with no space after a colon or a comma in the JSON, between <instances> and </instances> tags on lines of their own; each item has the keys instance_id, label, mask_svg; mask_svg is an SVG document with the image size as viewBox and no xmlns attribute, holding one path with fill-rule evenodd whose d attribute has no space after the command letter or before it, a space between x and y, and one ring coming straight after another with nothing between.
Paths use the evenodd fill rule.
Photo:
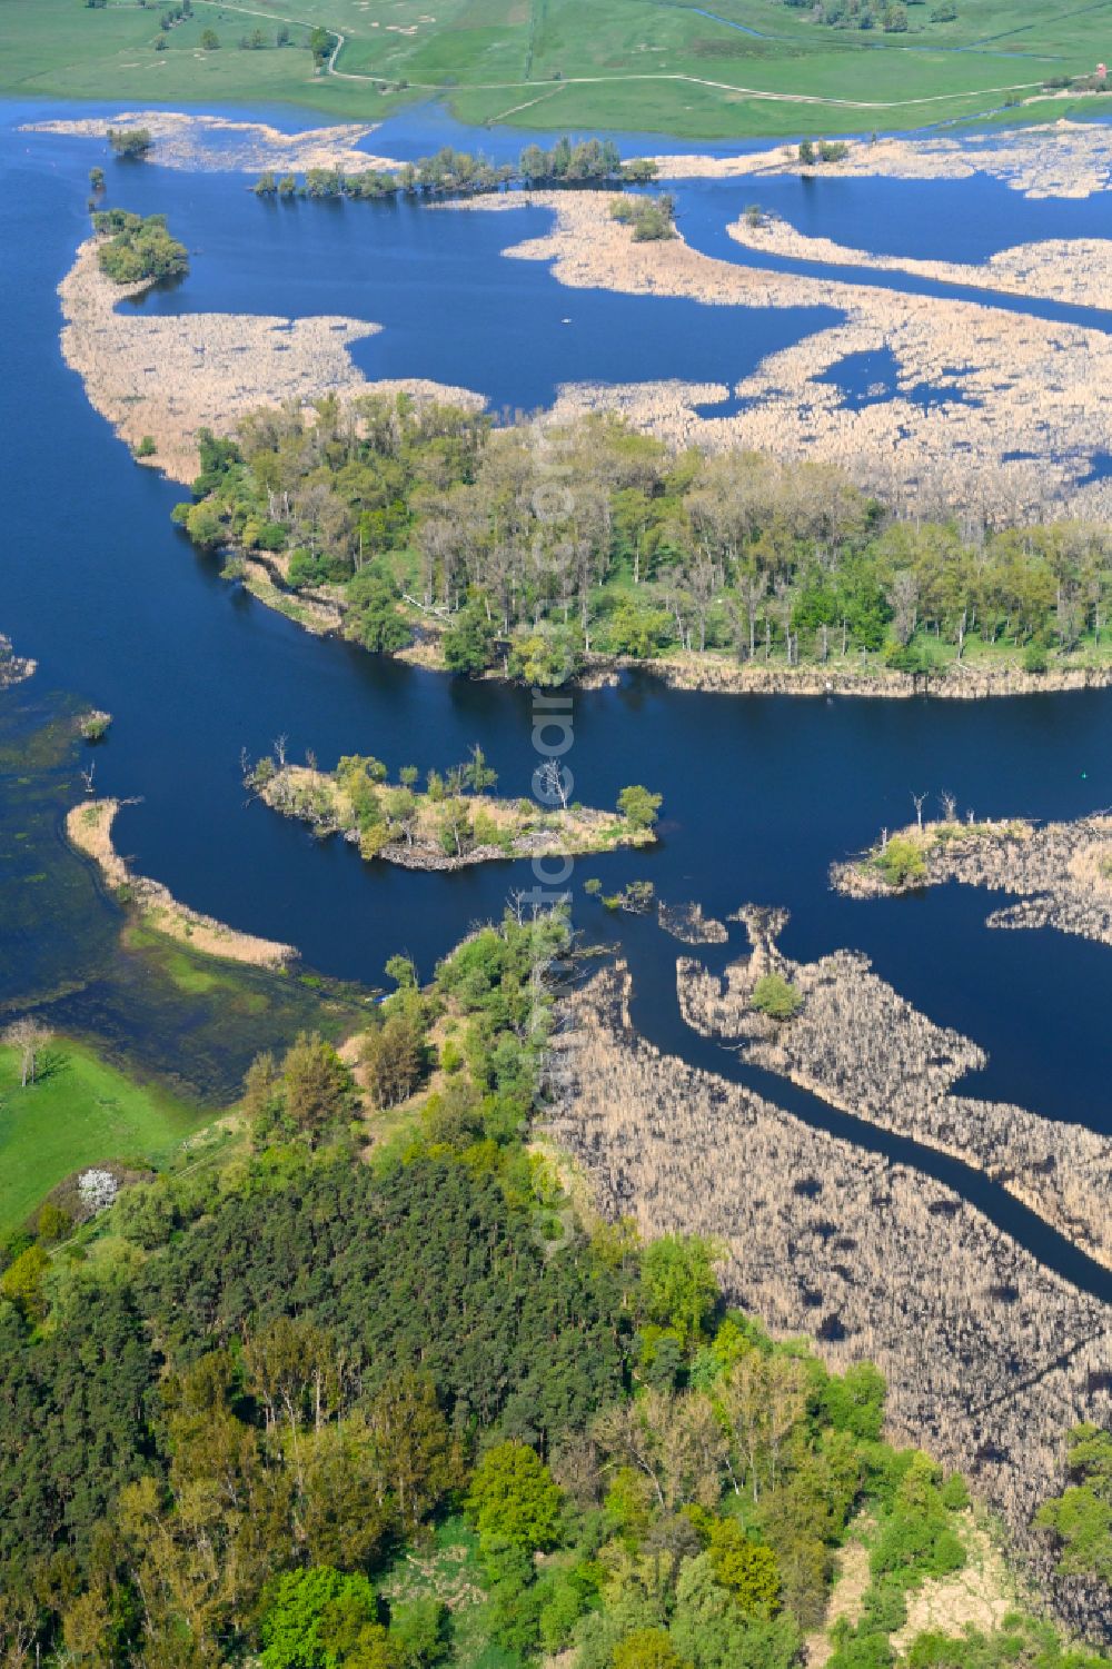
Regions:
<instances>
[{"instance_id":1,"label":"broad pale green grassland with winding tracks beyond the wetland","mask_svg":"<svg viewBox=\"0 0 1112 1669\"><path fill-rule=\"evenodd\" d=\"M474 124L778 137L977 120L1112 53L1112 0L957 0L953 22L932 22L927 0L905 33L826 28L781 0L706 10L716 15L685 0L195 0L155 52L157 0L0 0L0 92L287 102L369 120L442 95ZM304 45L314 25L342 37L321 72ZM202 50L205 28L219 50ZM240 50L254 28L270 45Z\"/></svg>"}]
</instances>

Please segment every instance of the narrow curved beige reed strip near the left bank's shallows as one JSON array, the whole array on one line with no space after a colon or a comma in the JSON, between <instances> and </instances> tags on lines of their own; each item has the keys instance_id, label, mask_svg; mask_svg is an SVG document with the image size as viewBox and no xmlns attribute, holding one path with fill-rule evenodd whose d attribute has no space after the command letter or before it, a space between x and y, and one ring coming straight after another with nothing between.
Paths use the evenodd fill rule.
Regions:
<instances>
[{"instance_id":1,"label":"narrow curved beige reed strip near the left bank's shallows","mask_svg":"<svg viewBox=\"0 0 1112 1669\"><path fill-rule=\"evenodd\" d=\"M129 888L147 926L187 945L204 956L240 961L252 968L284 971L297 960L292 945L279 945L254 933L240 933L212 916L204 916L179 903L162 881L135 875L112 843L112 823L120 799L90 799L73 806L65 816L65 834L75 851L92 858L109 888Z\"/></svg>"}]
</instances>

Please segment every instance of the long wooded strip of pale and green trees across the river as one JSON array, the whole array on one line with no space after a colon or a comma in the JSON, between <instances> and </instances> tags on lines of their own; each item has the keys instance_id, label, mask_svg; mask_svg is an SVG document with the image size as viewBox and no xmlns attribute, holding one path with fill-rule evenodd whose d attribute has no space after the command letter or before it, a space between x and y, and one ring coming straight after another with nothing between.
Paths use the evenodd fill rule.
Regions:
<instances>
[{"instance_id":1,"label":"long wooded strip of pale and green trees across the river","mask_svg":"<svg viewBox=\"0 0 1112 1669\"><path fill-rule=\"evenodd\" d=\"M862 663L1007 656L1039 674L1107 649L1112 539L1082 522L897 519L825 464L676 452L613 416L513 422L407 397L259 411L202 436L202 547L332 587L347 631L533 683L584 654Z\"/></svg>"}]
</instances>

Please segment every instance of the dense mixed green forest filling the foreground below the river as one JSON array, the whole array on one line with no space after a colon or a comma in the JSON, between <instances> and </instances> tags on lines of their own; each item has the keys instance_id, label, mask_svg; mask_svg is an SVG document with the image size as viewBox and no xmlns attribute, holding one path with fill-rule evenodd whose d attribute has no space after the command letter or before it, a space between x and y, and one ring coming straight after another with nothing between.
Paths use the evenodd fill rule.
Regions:
<instances>
[{"instance_id":1,"label":"dense mixed green forest filling the foreground below the river","mask_svg":"<svg viewBox=\"0 0 1112 1669\"><path fill-rule=\"evenodd\" d=\"M830 1662L897 1662L965 1484L873 1367L726 1312L713 1247L576 1212L529 1143L566 956L508 916L427 988L392 958L354 1055L255 1060L217 1165L3 1245L5 1664L790 1669L850 1535ZM1045 1509L1064 1569L1107 1574L1109 1450ZM1107 1669L1020 1614L898 1661Z\"/></svg>"}]
</instances>

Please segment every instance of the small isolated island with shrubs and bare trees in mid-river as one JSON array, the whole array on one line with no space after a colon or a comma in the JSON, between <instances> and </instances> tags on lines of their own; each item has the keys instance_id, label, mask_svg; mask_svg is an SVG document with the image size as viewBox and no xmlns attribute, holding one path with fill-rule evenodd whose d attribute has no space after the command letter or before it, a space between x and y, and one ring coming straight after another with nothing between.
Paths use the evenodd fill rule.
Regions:
<instances>
[{"instance_id":1,"label":"small isolated island with shrubs and bare trees in mid-river","mask_svg":"<svg viewBox=\"0 0 1112 1669\"><path fill-rule=\"evenodd\" d=\"M661 796L629 786L614 813L598 811L563 796L559 769L541 768L536 799L491 793L498 778L476 744L464 764L429 771L417 788L417 768L402 766L389 781L381 759L349 754L334 771L311 758L289 764L284 746L259 759L247 786L272 811L309 823L321 834L342 834L367 861L382 858L406 870L461 870L498 858L571 856L648 846Z\"/></svg>"}]
</instances>

